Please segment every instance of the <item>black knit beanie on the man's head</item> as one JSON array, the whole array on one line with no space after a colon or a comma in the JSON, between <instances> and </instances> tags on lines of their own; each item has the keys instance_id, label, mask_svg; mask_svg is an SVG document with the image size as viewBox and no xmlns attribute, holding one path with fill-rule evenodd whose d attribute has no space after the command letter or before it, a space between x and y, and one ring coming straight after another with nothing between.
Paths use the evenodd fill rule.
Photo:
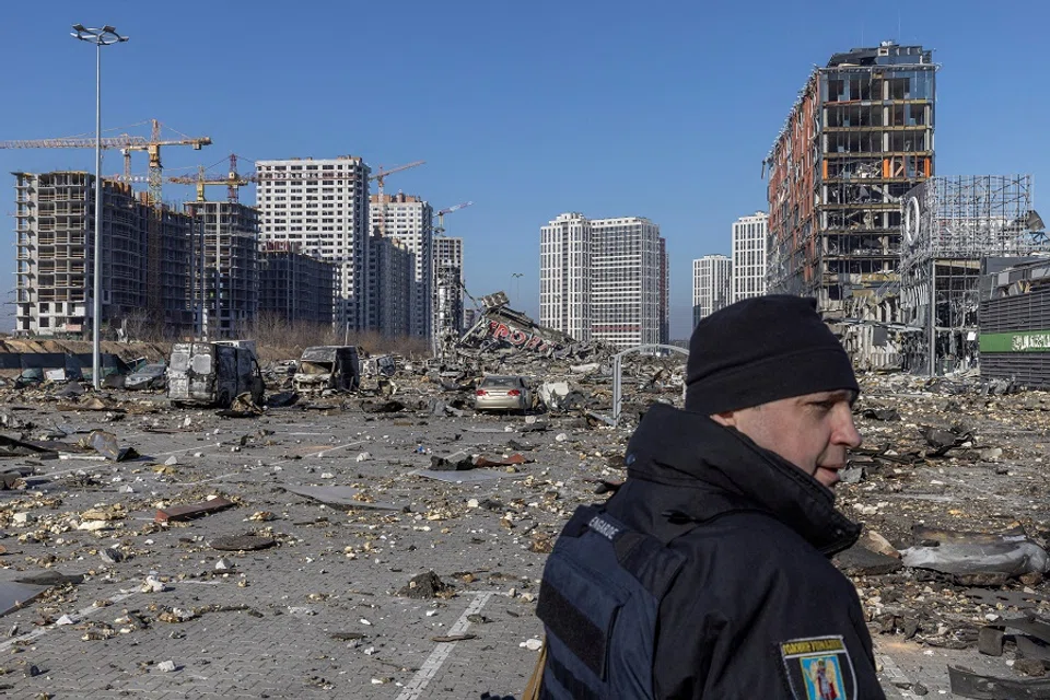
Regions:
<instances>
[{"instance_id":1,"label":"black knit beanie on the man's head","mask_svg":"<svg viewBox=\"0 0 1050 700\"><path fill-rule=\"evenodd\" d=\"M836 389L860 392L814 299L745 299L702 318L689 340L688 411L712 416Z\"/></svg>"}]
</instances>

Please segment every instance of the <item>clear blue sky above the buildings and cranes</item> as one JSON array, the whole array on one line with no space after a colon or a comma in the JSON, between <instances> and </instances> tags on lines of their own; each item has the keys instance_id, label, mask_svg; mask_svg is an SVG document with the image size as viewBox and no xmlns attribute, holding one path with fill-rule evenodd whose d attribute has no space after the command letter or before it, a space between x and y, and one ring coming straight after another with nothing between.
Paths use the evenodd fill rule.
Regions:
<instances>
[{"instance_id":1,"label":"clear blue sky above the buildings and cranes","mask_svg":"<svg viewBox=\"0 0 1050 700\"><path fill-rule=\"evenodd\" d=\"M231 152L254 160L349 153L373 167L424 160L392 175L387 190L419 194L435 209L472 200L445 220L447 233L466 242L468 290L514 296L520 287L512 303L534 315L539 226L563 211L648 217L667 238L672 335L682 337L691 260L728 253L733 220L766 208L761 160L813 66L835 51L884 39L933 48L942 65L937 173L1031 173L1035 206L1050 210L1041 197L1050 168L1048 7L5 3L0 140L94 132L94 49L68 32L78 22L112 24L131 40L103 49L103 128L158 118L214 141L202 151L164 150L167 174L222 170ZM144 154L132 158L144 175ZM93 163L91 150L0 150L11 185L0 211L14 209L7 173ZM120 168L119 154L108 154L103 172ZM164 196L192 191L166 184ZM254 202L252 188L242 201ZM12 258L0 259L8 300Z\"/></svg>"}]
</instances>

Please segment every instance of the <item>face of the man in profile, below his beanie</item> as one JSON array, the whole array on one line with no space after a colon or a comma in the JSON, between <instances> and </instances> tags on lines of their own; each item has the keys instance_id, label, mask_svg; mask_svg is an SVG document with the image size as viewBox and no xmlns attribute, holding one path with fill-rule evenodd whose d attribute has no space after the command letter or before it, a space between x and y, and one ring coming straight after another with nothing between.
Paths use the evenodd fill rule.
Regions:
<instances>
[{"instance_id":1,"label":"face of the man in profile, below his beanie","mask_svg":"<svg viewBox=\"0 0 1050 700\"><path fill-rule=\"evenodd\" d=\"M712 416L755 444L775 452L824 486L839 482L847 451L861 444L853 424L853 392L819 392Z\"/></svg>"}]
</instances>

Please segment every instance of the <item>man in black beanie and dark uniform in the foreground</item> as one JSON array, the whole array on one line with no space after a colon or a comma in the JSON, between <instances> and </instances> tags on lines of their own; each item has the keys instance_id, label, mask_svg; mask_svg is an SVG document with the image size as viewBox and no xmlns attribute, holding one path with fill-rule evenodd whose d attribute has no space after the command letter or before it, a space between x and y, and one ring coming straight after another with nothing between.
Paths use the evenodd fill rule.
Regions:
<instances>
[{"instance_id":1,"label":"man in black beanie and dark uniform in the foreground","mask_svg":"<svg viewBox=\"0 0 1050 700\"><path fill-rule=\"evenodd\" d=\"M814 300L702 319L686 408L656 404L628 478L548 559L539 697L885 698L831 489L861 438L849 355Z\"/></svg>"}]
</instances>

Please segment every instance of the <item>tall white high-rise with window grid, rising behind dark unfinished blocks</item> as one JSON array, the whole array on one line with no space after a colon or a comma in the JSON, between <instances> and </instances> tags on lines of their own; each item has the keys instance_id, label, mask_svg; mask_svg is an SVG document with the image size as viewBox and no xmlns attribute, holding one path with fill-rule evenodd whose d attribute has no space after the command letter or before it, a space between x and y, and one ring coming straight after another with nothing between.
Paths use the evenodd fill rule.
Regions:
<instances>
[{"instance_id":1,"label":"tall white high-rise with window grid, rising behind dark unfinished blocks","mask_svg":"<svg viewBox=\"0 0 1050 700\"><path fill-rule=\"evenodd\" d=\"M338 329L368 323L369 166L354 155L258 161L259 240L288 241L336 265Z\"/></svg>"}]
</instances>

